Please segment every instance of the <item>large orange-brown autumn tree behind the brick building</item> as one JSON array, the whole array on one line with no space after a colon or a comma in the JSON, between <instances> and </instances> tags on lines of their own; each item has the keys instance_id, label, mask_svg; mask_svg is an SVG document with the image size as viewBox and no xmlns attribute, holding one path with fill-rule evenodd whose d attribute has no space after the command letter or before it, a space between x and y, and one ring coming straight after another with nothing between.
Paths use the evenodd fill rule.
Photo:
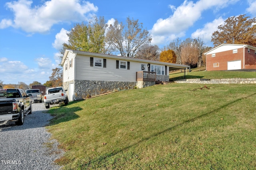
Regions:
<instances>
[{"instance_id":1,"label":"large orange-brown autumn tree behind the brick building","mask_svg":"<svg viewBox=\"0 0 256 170\"><path fill-rule=\"evenodd\" d=\"M256 46L256 19L244 15L229 17L224 25L212 33L214 47L222 43Z\"/></svg>"}]
</instances>

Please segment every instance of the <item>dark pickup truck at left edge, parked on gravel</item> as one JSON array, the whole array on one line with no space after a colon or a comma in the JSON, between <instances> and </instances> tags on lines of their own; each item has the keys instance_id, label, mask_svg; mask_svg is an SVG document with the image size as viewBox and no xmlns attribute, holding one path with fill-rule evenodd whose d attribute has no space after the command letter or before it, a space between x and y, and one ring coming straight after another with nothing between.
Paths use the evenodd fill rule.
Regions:
<instances>
[{"instance_id":1,"label":"dark pickup truck at left edge, parked on gravel","mask_svg":"<svg viewBox=\"0 0 256 170\"><path fill-rule=\"evenodd\" d=\"M24 115L32 113L30 97L22 89L0 89L0 121L23 125Z\"/></svg>"}]
</instances>

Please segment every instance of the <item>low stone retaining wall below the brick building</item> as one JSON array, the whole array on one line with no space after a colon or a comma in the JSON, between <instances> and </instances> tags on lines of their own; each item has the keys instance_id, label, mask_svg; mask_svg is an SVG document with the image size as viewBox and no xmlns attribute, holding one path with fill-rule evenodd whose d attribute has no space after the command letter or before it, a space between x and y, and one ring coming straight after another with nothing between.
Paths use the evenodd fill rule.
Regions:
<instances>
[{"instance_id":1,"label":"low stone retaining wall below the brick building","mask_svg":"<svg viewBox=\"0 0 256 170\"><path fill-rule=\"evenodd\" d=\"M222 79L203 79L192 78L174 81L176 83L198 83L198 84L256 84L256 78L222 78Z\"/></svg>"}]
</instances>

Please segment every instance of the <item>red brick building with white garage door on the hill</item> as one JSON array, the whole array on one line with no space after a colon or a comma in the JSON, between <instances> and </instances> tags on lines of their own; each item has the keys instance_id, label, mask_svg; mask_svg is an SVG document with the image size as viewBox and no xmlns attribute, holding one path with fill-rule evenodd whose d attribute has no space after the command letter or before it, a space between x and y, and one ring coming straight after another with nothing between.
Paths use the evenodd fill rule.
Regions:
<instances>
[{"instance_id":1,"label":"red brick building with white garage door on the hill","mask_svg":"<svg viewBox=\"0 0 256 170\"><path fill-rule=\"evenodd\" d=\"M256 69L256 47L240 44L222 44L206 55L206 70Z\"/></svg>"}]
</instances>

